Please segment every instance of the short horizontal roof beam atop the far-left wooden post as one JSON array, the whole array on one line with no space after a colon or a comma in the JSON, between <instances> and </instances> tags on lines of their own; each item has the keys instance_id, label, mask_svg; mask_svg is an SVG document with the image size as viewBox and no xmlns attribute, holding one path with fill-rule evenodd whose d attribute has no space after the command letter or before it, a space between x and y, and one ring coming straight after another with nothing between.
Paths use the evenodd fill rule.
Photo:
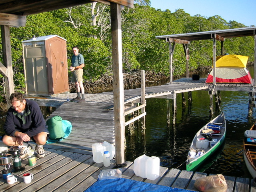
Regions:
<instances>
[{"instance_id":1,"label":"short horizontal roof beam atop the far-left wooden post","mask_svg":"<svg viewBox=\"0 0 256 192\"><path fill-rule=\"evenodd\" d=\"M6 13L0 13L0 25L5 26L26 26L26 16L12 15Z\"/></svg>"}]
</instances>

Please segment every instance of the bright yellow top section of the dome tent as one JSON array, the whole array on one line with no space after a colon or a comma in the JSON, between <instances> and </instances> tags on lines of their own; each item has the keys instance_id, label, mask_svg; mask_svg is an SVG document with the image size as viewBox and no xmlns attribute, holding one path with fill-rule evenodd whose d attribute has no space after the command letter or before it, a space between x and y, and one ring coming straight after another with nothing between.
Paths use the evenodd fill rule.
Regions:
<instances>
[{"instance_id":1,"label":"bright yellow top section of the dome tent","mask_svg":"<svg viewBox=\"0 0 256 192\"><path fill-rule=\"evenodd\" d=\"M246 67L248 56L221 55L216 57L216 67Z\"/></svg>"}]
</instances>

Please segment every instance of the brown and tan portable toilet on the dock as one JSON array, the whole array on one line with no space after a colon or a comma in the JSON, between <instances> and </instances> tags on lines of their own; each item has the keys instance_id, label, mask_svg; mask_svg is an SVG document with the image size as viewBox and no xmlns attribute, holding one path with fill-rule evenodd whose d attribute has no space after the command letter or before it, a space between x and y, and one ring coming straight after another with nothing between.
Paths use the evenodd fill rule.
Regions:
<instances>
[{"instance_id":1,"label":"brown and tan portable toilet on the dock","mask_svg":"<svg viewBox=\"0 0 256 192\"><path fill-rule=\"evenodd\" d=\"M22 41L26 94L51 96L68 93L66 39L58 35Z\"/></svg>"}]
</instances>

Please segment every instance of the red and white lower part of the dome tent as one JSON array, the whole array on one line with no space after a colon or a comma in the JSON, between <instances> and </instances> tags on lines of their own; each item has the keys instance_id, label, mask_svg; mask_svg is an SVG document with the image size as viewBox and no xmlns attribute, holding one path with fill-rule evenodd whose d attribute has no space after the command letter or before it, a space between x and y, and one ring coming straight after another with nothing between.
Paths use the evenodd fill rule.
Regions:
<instances>
[{"instance_id":1,"label":"red and white lower part of the dome tent","mask_svg":"<svg viewBox=\"0 0 256 192\"><path fill-rule=\"evenodd\" d=\"M216 67L216 83L251 84L252 77L245 67ZM208 74L206 83L213 82L213 70Z\"/></svg>"}]
</instances>

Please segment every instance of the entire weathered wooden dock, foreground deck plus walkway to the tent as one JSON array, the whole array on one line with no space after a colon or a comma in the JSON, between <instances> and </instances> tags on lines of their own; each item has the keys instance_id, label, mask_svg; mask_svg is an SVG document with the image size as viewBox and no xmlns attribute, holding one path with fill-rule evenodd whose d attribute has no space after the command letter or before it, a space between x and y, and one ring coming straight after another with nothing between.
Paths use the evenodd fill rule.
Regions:
<instances>
[{"instance_id":1,"label":"entire weathered wooden dock, foreground deck plus walkway to the tent","mask_svg":"<svg viewBox=\"0 0 256 192\"><path fill-rule=\"evenodd\" d=\"M186 81L186 82L185 82ZM208 90L208 84L204 80L194 81L192 78L182 78L170 85L162 85L145 88L146 98L172 98L174 94L190 92L194 90ZM221 86L220 86L221 87ZM222 87L227 88L225 85ZM233 88L229 85L230 88ZM238 86L234 86L238 87ZM252 87L242 86L243 91L250 91ZM141 89L124 90L124 103L140 102ZM0 191L60 191L60 192L80 192L89 188L97 181L98 174L103 167L103 163L95 163L92 158L92 144L107 141L114 144L114 113L113 113L113 93L106 92L100 94L86 94L85 103L67 102L75 98L75 93L58 94L51 98L28 98L36 100L40 105L56 106L58 108L50 115L59 115L63 120L72 123L72 132L68 138L54 144L46 144L46 156L36 160L35 166L28 166L28 159L22 160L22 166L26 170L14 173L18 182L9 185L0 178ZM49 118L50 118L49 117ZM35 145L31 142L32 145ZM205 173L192 172L186 170L170 169L160 167L160 176L152 181L137 177L133 171L133 162L126 162L123 168L122 177L163 186L172 186L188 190L195 190L194 182L197 178L206 176ZM30 184L23 182L22 174L32 173L34 179ZM238 178L225 176L228 184L228 192L254 192L256 188L252 186L249 178Z\"/></svg>"}]
</instances>

